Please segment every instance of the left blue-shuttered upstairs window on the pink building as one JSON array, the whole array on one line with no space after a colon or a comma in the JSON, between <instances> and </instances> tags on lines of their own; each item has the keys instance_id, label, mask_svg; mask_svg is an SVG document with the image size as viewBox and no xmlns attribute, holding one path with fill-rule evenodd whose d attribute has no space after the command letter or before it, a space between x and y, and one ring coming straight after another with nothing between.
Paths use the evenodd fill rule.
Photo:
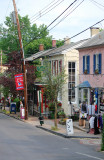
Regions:
<instances>
[{"instance_id":1,"label":"left blue-shuttered upstairs window on the pink building","mask_svg":"<svg viewBox=\"0 0 104 160\"><path fill-rule=\"evenodd\" d=\"M84 74L90 73L90 56L88 55L83 56L83 73Z\"/></svg>"}]
</instances>

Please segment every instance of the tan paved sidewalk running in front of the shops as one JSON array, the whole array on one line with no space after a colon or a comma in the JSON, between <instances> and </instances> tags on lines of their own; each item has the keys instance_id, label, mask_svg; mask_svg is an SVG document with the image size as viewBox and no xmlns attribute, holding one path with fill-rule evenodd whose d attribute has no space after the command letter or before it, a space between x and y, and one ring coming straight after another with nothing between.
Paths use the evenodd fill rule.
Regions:
<instances>
[{"instance_id":1,"label":"tan paved sidewalk running in front of the shops","mask_svg":"<svg viewBox=\"0 0 104 160\"><path fill-rule=\"evenodd\" d=\"M20 119L20 113L16 113L16 114L8 114L8 116L11 116L13 118L16 118L18 120ZM29 116L28 120L22 120L23 122L29 123L33 126L36 126L37 128L46 130L48 132L51 132L53 134L62 136L64 138L92 138L92 139L101 139L101 134L98 135L94 135L94 134L89 134L87 133L88 131L88 121L86 121L86 127L83 128L83 126L79 126L79 121L74 121L73 122L73 128L74 128L74 133L71 135L67 135L66 132L66 125L61 125L58 123L58 130L57 131L53 131L52 127L54 126L54 120L52 119L44 119L44 124L41 126L40 125L40 121L38 119L38 117L34 117L34 116ZM59 119L57 120L57 122L59 121Z\"/></svg>"}]
</instances>

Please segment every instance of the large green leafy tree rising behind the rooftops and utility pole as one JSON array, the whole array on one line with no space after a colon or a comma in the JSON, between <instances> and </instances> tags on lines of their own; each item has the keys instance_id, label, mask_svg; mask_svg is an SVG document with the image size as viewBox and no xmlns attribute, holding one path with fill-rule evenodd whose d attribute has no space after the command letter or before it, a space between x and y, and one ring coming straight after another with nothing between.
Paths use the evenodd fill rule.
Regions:
<instances>
[{"instance_id":1,"label":"large green leafy tree rising behind the rooftops and utility pole","mask_svg":"<svg viewBox=\"0 0 104 160\"><path fill-rule=\"evenodd\" d=\"M28 16L21 17L19 15L19 21L25 57L38 52L41 43L44 44L45 49L52 48L52 36L49 36L46 25L42 24L39 27L36 24L31 25ZM6 51L5 53L19 51L17 26L13 24L11 16L6 17L5 26L0 25L0 48ZM62 44L61 40L57 42L58 46Z\"/></svg>"}]
</instances>

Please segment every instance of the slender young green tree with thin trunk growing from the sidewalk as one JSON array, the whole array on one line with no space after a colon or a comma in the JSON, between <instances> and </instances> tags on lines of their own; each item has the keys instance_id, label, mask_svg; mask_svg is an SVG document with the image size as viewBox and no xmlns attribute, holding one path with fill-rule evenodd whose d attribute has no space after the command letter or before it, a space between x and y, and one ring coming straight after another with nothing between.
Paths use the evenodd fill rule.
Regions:
<instances>
[{"instance_id":1,"label":"slender young green tree with thin trunk growing from the sidewalk","mask_svg":"<svg viewBox=\"0 0 104 160\"><path fill-rule=\"evenodd\" d=\"M46 98L55 104L55 127L57 128L57 98L58 93L62 92L63 85L66 82L67 75L64 69L57 75L52 74L51 65L48 60L44 61L41 82L44 84L44 94Z\"/></svg>"}]
</instances>

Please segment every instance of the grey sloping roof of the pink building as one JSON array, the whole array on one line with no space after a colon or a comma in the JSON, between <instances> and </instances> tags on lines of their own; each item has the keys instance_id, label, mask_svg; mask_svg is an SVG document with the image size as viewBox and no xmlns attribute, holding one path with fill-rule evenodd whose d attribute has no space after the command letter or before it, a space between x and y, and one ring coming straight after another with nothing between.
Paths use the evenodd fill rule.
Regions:
<instances>
[{"instance_id":1,"label":"grey sloping roof of the pink building","mask_svg":"<svg viewBox=\"0 0 104 160\"><path fill-rule=\"evenodd\" d=\"M99 45L104 45L104 31L101 31L97 35L91 37L88 41L86 41L77 49L91 48Z\"/></svg>"}]
</instances>

